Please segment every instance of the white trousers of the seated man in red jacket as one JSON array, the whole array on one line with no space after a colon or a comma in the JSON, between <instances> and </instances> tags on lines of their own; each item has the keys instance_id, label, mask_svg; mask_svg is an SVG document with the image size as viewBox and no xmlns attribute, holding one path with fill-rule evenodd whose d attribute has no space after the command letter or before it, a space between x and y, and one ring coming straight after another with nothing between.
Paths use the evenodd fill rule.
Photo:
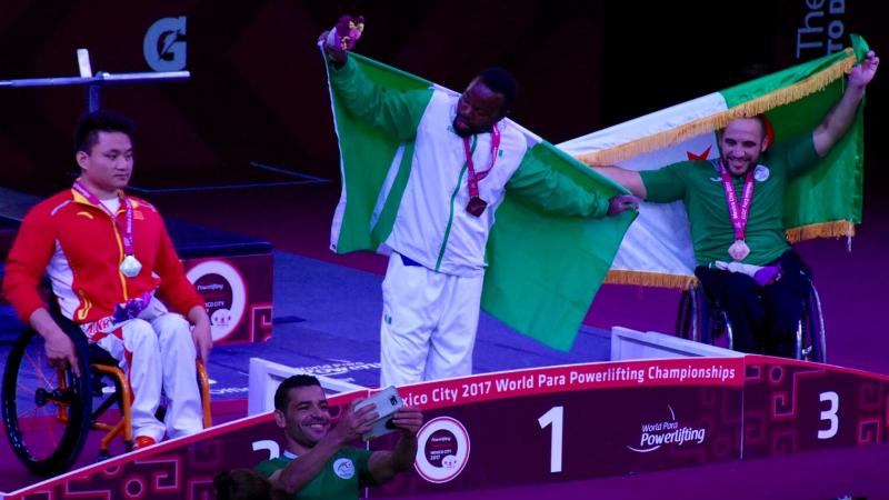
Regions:
<instances>
[{"instance_id":1,"label":"white trousers of the seated man in red jacket","mask_svg":"<svg viewBox=\"0 0 889 500\"><path fill-rule=\"evenodd\" d=\"M181 316L152 307L121 327L122 339L109 334L97 343L119 361L132 388L133 436L160 442L203 429L198 391L196 350L188 321ZM161 389L167 396L167 416L160 422L154 412Z\"/></svg>"}]
</instances>

